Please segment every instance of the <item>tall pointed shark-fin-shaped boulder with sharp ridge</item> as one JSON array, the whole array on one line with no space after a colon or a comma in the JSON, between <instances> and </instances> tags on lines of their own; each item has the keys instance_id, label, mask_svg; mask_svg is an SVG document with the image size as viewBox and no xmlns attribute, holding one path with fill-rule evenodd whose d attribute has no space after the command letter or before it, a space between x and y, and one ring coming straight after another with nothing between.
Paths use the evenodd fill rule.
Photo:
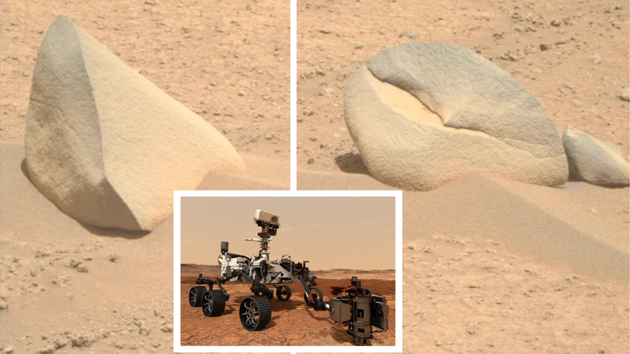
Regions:
<instances>
[{"instance_id":1,"label":"tall pointed shark-fin-shaped boulder with sharp ridge","mask_svg":"<svg viewBox=\"0 0 630 354\"><path fill-rule=\"evenodd\" d=\"M244 168L221 133L62 16L37 56L25 146L39 191L106 228L152 230L173 191Z\"/></svg>"}]
</instances>

